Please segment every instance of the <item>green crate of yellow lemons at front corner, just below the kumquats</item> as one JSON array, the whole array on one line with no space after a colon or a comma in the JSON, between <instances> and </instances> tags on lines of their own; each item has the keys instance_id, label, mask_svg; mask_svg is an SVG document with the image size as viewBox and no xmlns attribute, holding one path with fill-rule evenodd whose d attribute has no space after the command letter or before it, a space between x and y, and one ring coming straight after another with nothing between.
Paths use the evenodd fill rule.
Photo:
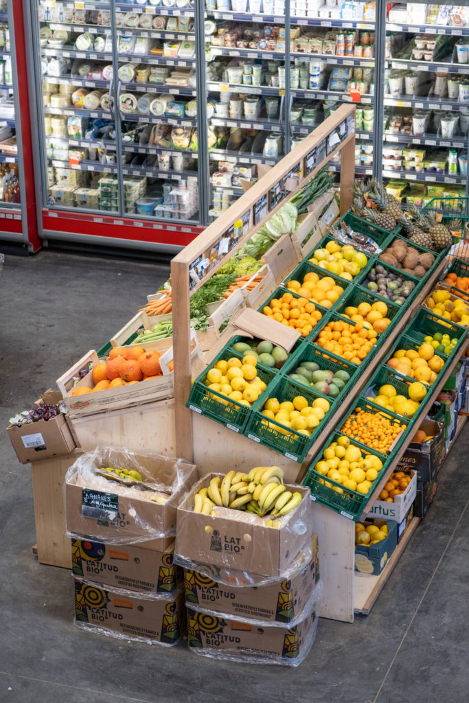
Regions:
<instances>
[{"instance_id":1,"label":"green crate of yellow lemons at front corner, just below the kumquats","mask_svg":"<svg viewBox=\"0 0 469 703\"><path fill-rule=\"evenodd\" d=\"M371 494L373 493L375 486L387 471L387 467L392 459L388 456L380 454L377 451L371 452L368 448L364 449L364 446L350 440L350 444L358 447L362 453L373 453L375 456L378 456L383 463L383 467L366 495L358 493L357 491L352 491L351 489L345 489L343 486L333 481L333 479L322 476L314 469L318 461L321 460L324 449L326 449L331 442L336 441L338 437L340 437L340 432L333 432L330 434L327 441L324 442L323 447L316 454L309 465L307 475L303 480L303 486L308 486L311 490L311 500L317 501L318 503L321 503L321 505L326 505L327 508L335 510L335 512L339 512L340 515L348 517L349 520L354 520L356 522L359 520L359 517L363 512Z\"/></svg>"}]
</instances>

